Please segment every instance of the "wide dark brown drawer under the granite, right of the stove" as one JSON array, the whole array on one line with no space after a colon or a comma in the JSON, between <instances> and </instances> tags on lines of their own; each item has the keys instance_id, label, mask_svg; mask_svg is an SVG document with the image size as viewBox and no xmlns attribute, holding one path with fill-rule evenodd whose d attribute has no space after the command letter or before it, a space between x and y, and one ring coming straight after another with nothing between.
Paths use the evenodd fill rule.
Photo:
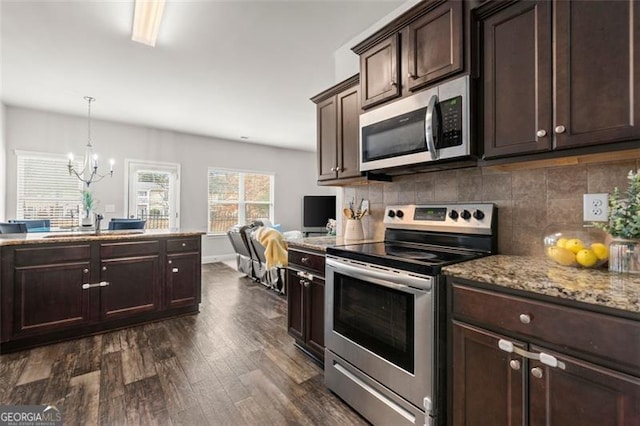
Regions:
<instances>
[{"instance_id":1,"label":"wide dark brown drawer under the granite, right of the stove","mask_svg":"<svg viewBox=\"0 0 640 426\"><path fill-rule=\"evenodd\" d=\"M453 315L530 336L637 370L640 323L610 315L453 284Z\"/></svg>"}]
</instances>

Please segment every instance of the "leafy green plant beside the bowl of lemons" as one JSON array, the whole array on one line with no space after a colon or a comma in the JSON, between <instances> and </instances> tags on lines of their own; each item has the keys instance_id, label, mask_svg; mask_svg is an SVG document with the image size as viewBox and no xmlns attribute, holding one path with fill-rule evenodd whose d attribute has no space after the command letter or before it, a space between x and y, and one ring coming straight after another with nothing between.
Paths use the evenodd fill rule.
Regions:
<instances>
[{"instance_id":1,"label":"leafy green plant beside the bowl of lemons","mask_svg":"<svg viewBox=\"0 0 640 426\"><path fill-rule=\"evenodd\" d=\"M609 220L605 223L595 222L598 228L611 234L614 238L630 240L640 239L640 170L629 171L627 176L629 187L626 197L616 187L609 197Z\"/></svg>"}]
</instances>

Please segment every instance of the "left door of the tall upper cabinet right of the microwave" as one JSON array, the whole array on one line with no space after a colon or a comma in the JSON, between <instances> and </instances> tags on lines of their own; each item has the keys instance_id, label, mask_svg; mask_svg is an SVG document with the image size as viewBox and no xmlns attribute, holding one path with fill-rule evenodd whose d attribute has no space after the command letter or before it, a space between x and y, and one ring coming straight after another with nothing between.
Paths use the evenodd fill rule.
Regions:
<instances>
[{"instance_id":1,"label":"left door of the tall upper cabinet right of the microwave","mask_svg":"<svg viewBox=\"0 0 640 426\"><path fill-rule=\"evenodd\" d=\"M551 2L482 19L484 158L551 149Z\"/></svg>"}]
</instances>

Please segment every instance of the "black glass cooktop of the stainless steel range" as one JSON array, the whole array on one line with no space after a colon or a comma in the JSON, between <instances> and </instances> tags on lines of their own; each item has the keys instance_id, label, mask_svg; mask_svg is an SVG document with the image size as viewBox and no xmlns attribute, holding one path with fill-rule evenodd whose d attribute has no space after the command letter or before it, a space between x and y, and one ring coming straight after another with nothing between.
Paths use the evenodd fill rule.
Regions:
<instances>
[{"instance_id":1,"label":"black glass cooktop of the stainless steel range","mask_svg":"<svg viewBox=\"0 0 640 426\"><path fill-rule=\"evenodd\" d=\"M327 248L327 253L351 260L408 270L425 275L440 273L442 266L463 262L483 254L428 244L377 242Z\"/></svg>"}]
</instances>

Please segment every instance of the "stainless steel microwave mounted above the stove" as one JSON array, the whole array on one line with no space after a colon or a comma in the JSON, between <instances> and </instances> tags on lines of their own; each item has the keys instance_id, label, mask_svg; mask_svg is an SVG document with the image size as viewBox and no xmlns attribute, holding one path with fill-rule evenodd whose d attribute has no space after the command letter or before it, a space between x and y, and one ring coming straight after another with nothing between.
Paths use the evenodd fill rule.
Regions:
<instances>
[{"instance_id":1,"label":"stainless steel microwave mounted above the stove","mask_svg":"<svg viewBox=\"0 0 640 426\"><path fill-rule=\"evenodd\" d=\"M470 154L469 76L360 115L361 171Z\"/></svg>"}]
</instances>

